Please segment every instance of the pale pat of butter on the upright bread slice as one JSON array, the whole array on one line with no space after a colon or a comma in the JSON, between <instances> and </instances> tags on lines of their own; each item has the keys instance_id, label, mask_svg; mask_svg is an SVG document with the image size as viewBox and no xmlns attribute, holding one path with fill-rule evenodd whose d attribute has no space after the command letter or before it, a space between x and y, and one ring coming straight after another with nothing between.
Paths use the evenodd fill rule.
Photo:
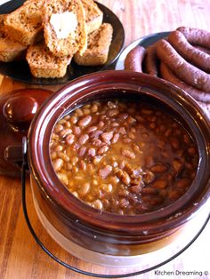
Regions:
<instances>
[{"instance_id":1,"label":"pale pat of butter on the upright bread slice","mask_svg":"<svg viewBox=\"0 0 210 279\"><path fill-rule=\"evenodd\" d=\"M77 28L77 15L74 12L52 13L50 23L58 39L66 39Z\"/></svg>"}]
</instances>

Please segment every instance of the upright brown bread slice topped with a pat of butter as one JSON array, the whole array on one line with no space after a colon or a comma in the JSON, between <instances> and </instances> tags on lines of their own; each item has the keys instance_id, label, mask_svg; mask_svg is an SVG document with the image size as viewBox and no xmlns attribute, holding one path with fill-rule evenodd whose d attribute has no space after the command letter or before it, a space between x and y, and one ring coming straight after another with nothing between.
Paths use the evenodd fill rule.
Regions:
<instances>
[{"instance_id":1,"label":"upright brown bread slice topped with a pat of butter","mask_svg":"<svg viewBox=\"0 0 210 279\"><path fill-rule=\"evenodd\" d=\"M85 51L85 11L80 0L45 0L43 22L45 43L54 55Z\"/></svg>"}]
</instances>

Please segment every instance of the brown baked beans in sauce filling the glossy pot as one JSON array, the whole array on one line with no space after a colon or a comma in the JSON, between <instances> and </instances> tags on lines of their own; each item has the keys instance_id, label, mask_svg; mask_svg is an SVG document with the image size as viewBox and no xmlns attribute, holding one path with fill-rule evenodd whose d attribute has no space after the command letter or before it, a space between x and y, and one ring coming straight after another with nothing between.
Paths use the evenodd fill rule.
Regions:
<instances>
[{"instance_id":1,"label":"brown baked beans in sauce filling the glossy pot","mask_svg":"<svg viewBox=\"0 0 210 279\"><path fill-rule=\"evenodd\" d=\"M136 101L76 108L55 125L50 153L54 171L73 195L121 215L173 203L198 168L198 149L182 124Z\"/></svg>"}]
</instances>

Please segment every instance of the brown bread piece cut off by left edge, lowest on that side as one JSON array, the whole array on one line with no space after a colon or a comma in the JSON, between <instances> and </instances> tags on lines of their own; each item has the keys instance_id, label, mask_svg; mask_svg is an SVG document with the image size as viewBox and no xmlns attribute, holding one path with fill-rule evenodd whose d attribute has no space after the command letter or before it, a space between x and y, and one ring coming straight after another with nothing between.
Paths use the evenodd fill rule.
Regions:
<instances>
[{"instance_id":1,"label":"brown bread piece cut off by left edge, lowest on that side","mask_svg":"<svg viewBox=\"0 0 210 279\"><path fill-rule=\"evenodd\" d=\"M25 56L27 46L12 42L8 37L0 37L0 61L11 62Z\"/></svg>"}]
</instances>

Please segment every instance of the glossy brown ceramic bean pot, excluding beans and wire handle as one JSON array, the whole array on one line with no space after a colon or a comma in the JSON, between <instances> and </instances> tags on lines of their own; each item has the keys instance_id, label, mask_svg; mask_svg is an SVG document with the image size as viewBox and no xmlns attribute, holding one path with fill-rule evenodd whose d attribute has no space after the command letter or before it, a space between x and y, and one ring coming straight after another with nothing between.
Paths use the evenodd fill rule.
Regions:
<instances>
[{"instance_id":1,"label":"glossy brown ceramic bean pot, excluding beans and wire handle","mask_svg":"<svg viewBox=\"0 0 210 279\"><path fill-rule=\"evenodd\" d=\"M52 129L70 110L91 100L143 100L169 111L190 132L198 147L198 171L189 190L165 208L134 216L98 211L61 184L52 168ZM28 132L28 164L36 211L44 227L76 254L131 257L170 243L210 195L210 125L195 100L159 78L130 71L83 76L53 94L35 116ZM74 247L75 250L74 250ZM97 255L97 257L94 257ZM87 258L88 260L88 258Z\"/></svg>"}]
</instances>

